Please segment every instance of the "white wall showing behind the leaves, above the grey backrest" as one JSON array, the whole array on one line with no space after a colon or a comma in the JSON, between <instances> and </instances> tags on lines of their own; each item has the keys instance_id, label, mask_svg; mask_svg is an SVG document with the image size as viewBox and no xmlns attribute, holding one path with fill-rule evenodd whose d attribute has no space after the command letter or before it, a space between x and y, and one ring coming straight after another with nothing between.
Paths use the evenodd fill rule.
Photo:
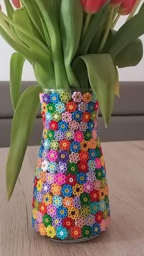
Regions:
<instances>
[{"instance_id":1,"label":"white wall showing behind the leaves, above the grey backrest","mask_svg":"<svg viewBox=\"0 0 144 256\"><path fill-rule=\"evenodd\" d=\"M2 10L4 10L3 1L0 0L2 5ZM117 27L120 27L123 24L123 21L126 17L122 17L118 22ZM141 37L144 46L144 35ZM4 42L3 38L0 35L0 81L9 81L9 63L10 56L13 53L13 49ZM140 64L137 67L122 68L119 70L120 81L144 81L144 56ZM26 62L24 64L23 71L23 81L32 81L35 80L34 73L31 65Z\"/></svg>"}]
</instances>

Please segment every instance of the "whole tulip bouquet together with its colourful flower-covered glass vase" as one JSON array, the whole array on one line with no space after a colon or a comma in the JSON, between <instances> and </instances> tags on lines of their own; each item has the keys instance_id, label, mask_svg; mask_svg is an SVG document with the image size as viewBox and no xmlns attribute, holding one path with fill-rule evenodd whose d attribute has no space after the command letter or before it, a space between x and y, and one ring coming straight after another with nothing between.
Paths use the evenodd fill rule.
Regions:
<instances>
[{"instance_id":1,"label":"whole tulip bouquet together with its colourful flower-covered glass vase","mask_svg":"<svg viewBox=\"0 0 144 256\"><path fill-rule=\"evenodd\" d=\"M41 103L43 135L34 179L32 223L40 235L87 240L110 220L98 109L107 126L118 68L143 56L140 0L4 0L0 34L13 49L10 95L14 110L6 181L8 199L20 173ZM139 12L135 14L141 4ZM129 15L115 30L121 15ZM37 85L20 95L24 61Z\"/></svg>"}]
</instances>

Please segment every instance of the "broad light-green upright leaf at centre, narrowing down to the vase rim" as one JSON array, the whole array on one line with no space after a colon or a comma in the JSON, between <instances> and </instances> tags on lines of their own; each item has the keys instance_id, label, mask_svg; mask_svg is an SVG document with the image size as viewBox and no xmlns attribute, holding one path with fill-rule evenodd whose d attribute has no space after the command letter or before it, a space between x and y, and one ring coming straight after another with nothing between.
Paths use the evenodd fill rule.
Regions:
<instances>
[{"instance_id":1,"label":"broad light-green upright leaf at centre, narrowing down to the vase rim","mask_svg":"<svg viewBox=\"0 0 144 256\"><path fill-rule=\"evenodd\" d=\"M82 5L80 0L62 0L60 10L61 38L65 68L71 86L79 87L71 68L71 61L77 52L82 31Z\"/></svg>"}]
</instances>

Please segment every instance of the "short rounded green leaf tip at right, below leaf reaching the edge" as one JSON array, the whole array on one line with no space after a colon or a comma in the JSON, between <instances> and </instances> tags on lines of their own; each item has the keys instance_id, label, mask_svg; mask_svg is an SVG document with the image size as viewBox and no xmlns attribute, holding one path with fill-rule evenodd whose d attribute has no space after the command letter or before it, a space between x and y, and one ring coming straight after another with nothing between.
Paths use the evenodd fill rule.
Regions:
<instances>
[{"instance_id":1,"label":"short rounded green leaf tip at right, below leaf reaching the edge","mask_svg":"<svg viewBox=\"0 0 144 256\"><path fill-rule=\"evenodd\" d=\"M143 44L138 38L126 46L116 57L115 64L118 68L132 67L139 64L143 57Z\"/></svg>"}]
</instances>

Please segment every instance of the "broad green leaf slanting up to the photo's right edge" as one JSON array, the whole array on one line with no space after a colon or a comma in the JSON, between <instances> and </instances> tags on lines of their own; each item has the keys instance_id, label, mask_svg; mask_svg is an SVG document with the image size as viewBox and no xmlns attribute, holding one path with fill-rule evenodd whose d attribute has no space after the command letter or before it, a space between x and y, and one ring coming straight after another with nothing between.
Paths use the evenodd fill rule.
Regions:
<instances>
[{"instance_id":1,"label":"broad green leaf slanting up to the photo's right edge","mask_svg":"<svg viewBox=\"0 0 144 256\"><path fill-rule=\"evenodd\" d=\"M114 35L108 53L115 59L126 46L128 46L135 39L144 34L144 9L130 20L123 24L123 26Z\"/></svg>"}]
</instances>

